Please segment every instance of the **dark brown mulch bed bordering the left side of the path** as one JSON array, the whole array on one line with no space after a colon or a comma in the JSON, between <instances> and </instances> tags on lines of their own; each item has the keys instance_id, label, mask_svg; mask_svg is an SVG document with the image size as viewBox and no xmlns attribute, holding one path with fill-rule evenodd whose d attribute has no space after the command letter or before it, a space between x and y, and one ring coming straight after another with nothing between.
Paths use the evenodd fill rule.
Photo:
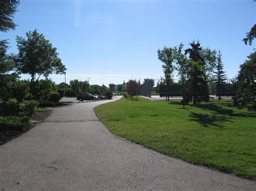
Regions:
<instances>
[{"instance_id":1,"label":"dark brown mulch bed bordering the left side of the path","mask_svg":"<svg viewBox=\"0 0 256 191\"><path fill-rule=\"evenodd\" d=\"M36 114L32 115L30 117L31 121L37 121L37 122L42 122L44 119L46 119L49 115L51 115L52 110L43 110L41 112L37 112ZM3 145L7 142L9 142L12 139L15 139L19 136L21 136L23 133L29 131L33 127L35 127L38 123L33 123L32 126L29 128L24 129L23 131L6 131L6 130L1 130L0 131L0 145Z\"/></svg>"}]
</instances>

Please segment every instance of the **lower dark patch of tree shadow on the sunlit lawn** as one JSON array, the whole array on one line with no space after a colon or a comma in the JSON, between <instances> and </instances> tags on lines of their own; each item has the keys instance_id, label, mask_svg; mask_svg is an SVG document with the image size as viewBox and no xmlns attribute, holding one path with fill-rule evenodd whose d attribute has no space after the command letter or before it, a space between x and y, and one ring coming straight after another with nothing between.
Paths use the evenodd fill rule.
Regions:
<instances>
[{"instance_id":1,"label":"lower dark patch of tree shadow on the sunlit lawn","mask_svg":"<svg viewBox=\"0 0 256 191\"><path fill-rule=\"evenodd\" d=\"M203 125L205 128L208 128L209 125L214 125L214 126L217 126L218 128L223 128L223 125L221 125L221 123L224 123L226 121L232 122L225 116L197 114L195 112L191 112L190 117L192 117L190 121L198 122L201 125Z\"/></svg>"}]
</instances>

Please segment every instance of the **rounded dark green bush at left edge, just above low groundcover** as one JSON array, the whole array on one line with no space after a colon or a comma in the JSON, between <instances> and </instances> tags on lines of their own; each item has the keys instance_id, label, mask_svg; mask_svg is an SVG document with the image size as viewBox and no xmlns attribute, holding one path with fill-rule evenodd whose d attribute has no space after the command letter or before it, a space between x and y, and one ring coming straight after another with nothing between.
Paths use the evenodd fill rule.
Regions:
<instances>
[{"instance_id":1,"label":"rounded dark green bush at left edge, just above low groundcover","mask_svg":"<svg viewBox=\"0 0 256 191\"><path fill-rule=\"evenodd\" d=\"M0 114L3 116L16 115L18 104L16 99L10 99L8 102L0 104Z\"/></svg>"}]
</instances>

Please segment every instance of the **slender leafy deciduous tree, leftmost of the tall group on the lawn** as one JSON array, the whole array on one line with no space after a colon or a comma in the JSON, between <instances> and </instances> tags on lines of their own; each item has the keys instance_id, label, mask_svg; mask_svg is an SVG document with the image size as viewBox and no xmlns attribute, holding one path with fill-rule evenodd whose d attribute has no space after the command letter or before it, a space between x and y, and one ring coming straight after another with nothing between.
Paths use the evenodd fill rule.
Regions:
<instances>
[{"instance_id":1,"label":"slender leafy deciduous tree, leftmost of the tall group on the lawn","mask_svg":"<svg viewBox=\"0 0 256 191\"><path fill-rule=\"evenodd\" d=\"M174 49L168 48L165 46L164 49L162 49L162 50L158 49L157 54L158 54L158 59L161 62L164 62L162 67L163 67L164 75L165 75L165 83L167 86L170 86L170 84L173 82ZM169 101L169 96L168 96L168 101Z\"/></svg>"}]
</instances>

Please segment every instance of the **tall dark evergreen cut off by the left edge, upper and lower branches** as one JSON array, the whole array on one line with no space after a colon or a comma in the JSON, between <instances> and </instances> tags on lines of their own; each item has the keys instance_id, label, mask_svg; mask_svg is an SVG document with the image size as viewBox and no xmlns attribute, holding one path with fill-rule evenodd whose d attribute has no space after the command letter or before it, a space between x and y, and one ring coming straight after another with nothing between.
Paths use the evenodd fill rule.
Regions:
<instances>
[{"instance_id":1,"label":"tall dark evergreen cut off by the left edge, upper and lower branches","mask_svg":"<svg viewBox=\"0 0 256 191\"><path fill-rule=\"evenodd\" d=\"M0 31L7 32L15 30L16 24L12 20L17 11L18 0L2 0L0 1ZM7 40L0 40L0 100L7 100L11 84L16 81L18 75L10 73L14 69L13 62L6 54L8 49Z\"/></svg>"}]
</instances>

